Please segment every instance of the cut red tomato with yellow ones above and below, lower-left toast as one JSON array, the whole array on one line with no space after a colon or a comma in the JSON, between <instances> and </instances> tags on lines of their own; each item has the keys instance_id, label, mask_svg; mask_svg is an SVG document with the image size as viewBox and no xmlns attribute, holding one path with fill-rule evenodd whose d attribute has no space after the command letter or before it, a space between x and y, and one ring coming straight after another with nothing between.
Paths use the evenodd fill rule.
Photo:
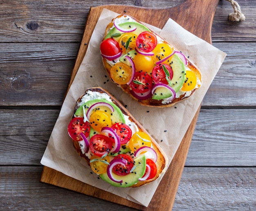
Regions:
<instances>
[{"instance_id":1,"label":"cut red tomato with yellow ones above and below, lower-left toast","mask_svg":"<svg viewBox=\"0 0 256 211\"><path fill-rule=\"evenodd\" d=\"M93 154L101 157L106 152L110 152L112 149L112 141L107 136L96 134L91 137L89 146Z\"/></svg>"}]
</instances>

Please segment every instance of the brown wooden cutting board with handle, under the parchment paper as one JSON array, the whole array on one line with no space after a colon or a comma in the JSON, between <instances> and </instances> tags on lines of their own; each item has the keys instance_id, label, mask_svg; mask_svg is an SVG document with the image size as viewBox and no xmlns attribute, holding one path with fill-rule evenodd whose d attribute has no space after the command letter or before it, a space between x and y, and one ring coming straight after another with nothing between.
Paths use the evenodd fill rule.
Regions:
<instances>
[{"instance_id":1,"label":"brown wooden cutting board with handle, under the parchment paper","mask_svg":"<svg viewBox=\"0 0 256 211\"><path fill-rule=\"evenodd\" d=\"M67 90L70 88L70 85L72 84L83 60L90 42L90 37L103 8L112 10L119 14L131 15L141 22L157 26L160 29L162 29L168 18L171 18L183 26L184 29L211 43L211 27L218 2L219 0L187 0L176 7L169 7L165 9L150 9L126 5L103 5L99 7L91 7ZM141 206L119 196L113 195L112 193L87 185L49 167L43 167L40 182L49 183L58 187L84 193L88 196L97 197L140 210L171 210L186 161L186 156L189 151L199 111L200 108L198 108L198 111L196 112L180 147L177 149L177 152L171 161L171 165L168 167L168 170L162 178L148 207Z\"/></svg>"}]
</instances>

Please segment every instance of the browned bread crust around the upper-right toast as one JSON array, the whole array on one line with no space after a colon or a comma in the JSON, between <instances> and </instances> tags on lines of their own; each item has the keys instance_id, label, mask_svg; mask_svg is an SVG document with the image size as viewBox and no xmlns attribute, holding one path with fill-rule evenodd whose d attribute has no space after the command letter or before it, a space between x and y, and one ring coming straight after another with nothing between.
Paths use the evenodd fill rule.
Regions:
<instances>
[{"instance_id":1,"label":"browned bread crust around the upper-right toast","mask_svg":"<svg viewBox=\"0 0 256 211\"><path fill-rule=\"evenodd\" d=\"M117 16L116 18L121 18L122 16L126 16L126 15L119 15ZM114 25L114 20L116 19L114 18L112 20L112 22L110 22L108 24L108 26L106 27L106 30L105 30L105 35L103 37L102 40L105 40L105 37L106 35L108 34L108 32L110 31L111 27ZM136 22L142 24L141 22L139 22L137 19L133 18L133 20L135 20ZM151 31L153 34L157 35L155 32ZM157 35L158 37L160 37L159 35ZM162 38L162 37L161 37ZM163 42L165 44L168 44L169 46L171 46L173 48L173 46L171 44L169 44L168 42L166 42L166 40L164 40L162 38ZM174 48L173 48L174 49ZM176 49L177 50L177 49ZM103 62L103 66L105 67L107 73L108 73L108 76L110 77L111 81L114 83L114 84L117 84L117 86L119 86L124 92L128 93L130 95L130 97L132 97L133 99L137 100L141 105L143 106L149 106L149 107L159 107L159 108L164 108L164 107L170 107L170 106L173 106L175 103L177 102L180 102L180 101L183 101L184 99L187 99L189 98L191 95L193 95L193 93L195 92L196 89L200 88L201 84L202 84L202 74L200 72L200 70L198 69L198 67L193 64L188 58L186 58L187 60L187 65L186 67L189 68L190 70L193 70L193 72L196 74L197 78L200 80L200 84L198 84L198 87L197 88L194 88L193 90L191 90L190 92L190 95L186 95L186 93L184 95L180 95L180 97L178 98L175 98L173 99L171 102L167 103L167 104L163 104L162 103L162 100L154 100L152 98L148 98L148 99L145 99L145 100L140 100L140 99L137 99L136 97L134 97L132 94L131 94L131 89L130 87L127 85L127 84L124 84L124 85L120 85L120 84L117 84L115 83L115 81L112 80L111 78L111 75L110 75L110 70L112 68L112 66L110 64L108 64L107 62L107 59L106 58L103 58L102 57L102 62Z\"/></svg>"}]
</instances>

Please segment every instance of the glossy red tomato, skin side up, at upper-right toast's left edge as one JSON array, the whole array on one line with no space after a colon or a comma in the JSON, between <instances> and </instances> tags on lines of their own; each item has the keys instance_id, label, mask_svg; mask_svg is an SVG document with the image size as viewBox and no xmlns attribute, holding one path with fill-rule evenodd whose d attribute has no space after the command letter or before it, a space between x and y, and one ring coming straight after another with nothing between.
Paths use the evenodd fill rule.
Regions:
<instances>
[{"instance_id":1,"label":"glossy red tomato, skin side up, at upper-right toast's left edge","mask_svg":"<svg viewBox=\"0 0 256 211\"><path fill-rule=\"evenodd\" d=\"M106 56L114 56L122 52L119 43L113 38L108 38L101 42L101 53Z\"/></svg>"}]
</instances>

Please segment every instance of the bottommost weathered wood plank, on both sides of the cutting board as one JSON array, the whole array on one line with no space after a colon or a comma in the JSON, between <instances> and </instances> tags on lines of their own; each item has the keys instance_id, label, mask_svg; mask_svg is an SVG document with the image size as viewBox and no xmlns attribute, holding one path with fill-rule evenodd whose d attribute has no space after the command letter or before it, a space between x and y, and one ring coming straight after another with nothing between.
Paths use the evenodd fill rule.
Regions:
<instances>
[{"instance_id":1,"label":"bottommost weathered wood plank, on both sides of the cutting board","mask_svg":"<svg viewBox=\"0 0 256 211\"><path fill-rule=\"evenodd\" d=\"M40 183L41 171L41 166L2 166L0 168L1 208L3 210L133 210ZM185 167L173 211L255 210L256 198L252 197L256 194L255 175L256 168L253 167Z\"/></svg>"}]
</instances>

